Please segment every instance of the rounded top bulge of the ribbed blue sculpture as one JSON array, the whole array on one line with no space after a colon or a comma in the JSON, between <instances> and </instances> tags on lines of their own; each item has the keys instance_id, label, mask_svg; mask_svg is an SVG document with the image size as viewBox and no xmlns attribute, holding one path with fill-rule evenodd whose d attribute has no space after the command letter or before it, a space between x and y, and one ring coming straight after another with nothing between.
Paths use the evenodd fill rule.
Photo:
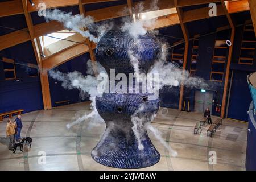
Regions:
<instances>
[{"instance_id":1,"label":"rounded top bulge of the ribbed blue sculpture","mask_svg":"<svg viewBox=\"0 0 256 182\"><path fill-rule=\"evenodd\" d=\"M151 34L139 36L138 40L134 40L128 32L110 30L97 44L96 60L100 61L107 73L113 68L115 73L134 73L128 55L129 49L138 55L141 70L147 72L155 62L160 44ZM112 52L112 55L108 56L107 51Z\"/></svg>"}]
</instances>

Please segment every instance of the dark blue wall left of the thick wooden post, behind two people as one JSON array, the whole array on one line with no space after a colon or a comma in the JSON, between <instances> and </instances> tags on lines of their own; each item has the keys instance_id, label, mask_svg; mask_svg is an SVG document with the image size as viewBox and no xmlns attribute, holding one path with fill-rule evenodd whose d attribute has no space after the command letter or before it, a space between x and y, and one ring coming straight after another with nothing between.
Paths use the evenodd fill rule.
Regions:
<instances>
[{"instance_id":1,"label":"dark blue wall left of the thick wooden post, behind two people","mask_svg":"<svg viewBox=\"0 0 256 182\"><path fill-rule=\"evenodd\" d=\"M16 80L5 80L3 62L0 61L0 112L24 109L24 113L43 109L40 78L29 77L26 64L36 64L31 42L0 51L0 59L14 59Z\"/></svg>"}]
</instances>

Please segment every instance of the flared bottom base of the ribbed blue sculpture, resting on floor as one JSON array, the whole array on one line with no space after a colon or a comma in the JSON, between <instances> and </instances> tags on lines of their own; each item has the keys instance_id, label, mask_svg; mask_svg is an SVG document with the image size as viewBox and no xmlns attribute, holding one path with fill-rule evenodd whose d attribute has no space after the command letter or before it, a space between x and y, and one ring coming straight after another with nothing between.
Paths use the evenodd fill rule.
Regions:
<instances>
[{"instance_id":1,"label":"flared bottom base of the ribbed blue sculpture, resting on floor","mask_svg":"<svg viewBox=\"0 0 256 182\"><path fill-rule=\"evenodd\" d=\"M107 131L105 131L106 133ZM143 150L138 149L135 137L115 137L107 135L92 150L92 158L108 167L121 169L138 169L153 166L160 160L160 154L151 143L147 133L141 143Z\"/></svg>"}]
</instances>

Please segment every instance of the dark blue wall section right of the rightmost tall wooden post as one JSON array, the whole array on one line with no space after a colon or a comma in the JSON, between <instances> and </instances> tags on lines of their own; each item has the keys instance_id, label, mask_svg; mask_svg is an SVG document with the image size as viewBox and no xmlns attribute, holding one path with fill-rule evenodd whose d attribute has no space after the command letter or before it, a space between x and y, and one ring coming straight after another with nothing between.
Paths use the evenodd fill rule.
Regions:
<instances>
[{"instance_id":1,"label":"dark blue wall section right of the rightmost tall wooden post","mask_svg":"<svg viewBox=\"0 0 256 182\"><path fill-rule=\"evenodd\" d=\"M248 17L250 13L240 13L243 17ZM233 15L236 17L237 23L244 23L245 18L241 19L241 16ZM250 16L249 16L250 17ZM234 39L234 48L232 55L232 64L230 69L233 70L232 88L230 90L230 101L228 118L238 119L241 121L247 121L248 115L247 110L249 108L251 97L249 88L247 86L246 77L252 72L256 71L256 51L254 52L253 65L238 64L240 58L240 48L242 43L243 26L236 28L236 34ZM256 46L256 45L255 45ZM230 71L231 73L231 71ZM237 104L239 103L239 104Z\"/></svg>"}]
</instances>

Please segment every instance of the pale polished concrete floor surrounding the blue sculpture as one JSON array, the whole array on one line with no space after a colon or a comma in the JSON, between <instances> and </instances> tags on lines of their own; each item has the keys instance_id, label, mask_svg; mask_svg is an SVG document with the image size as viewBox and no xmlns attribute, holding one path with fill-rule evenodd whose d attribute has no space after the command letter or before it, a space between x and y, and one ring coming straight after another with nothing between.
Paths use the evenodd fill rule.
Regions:
<instances>
[{"instance_id":1,"label":"pale polished concrete floor surrounding the blue sculpture","mask_svg":"<svg viewBox=\"0 0 256 182\"><path fill-rule=\"evenodd\" d=\"M31 148L24 146L24 152L18 149L16 155L8 150L6 118L0 123L0 170L117 170L94 162L90 156L104 133L105 124L92 128L85 122L71 130L65 127L89 112L89 104L84 102L23 114L22 137L30 136L33 142ZM148 132L161 159L154 166L141 170L245 170L247 124L225 119L210 138L206 137L209 125L203 127L201 135L193 134L193 127L201 118L199 113L175 109L168 109L167 113L160 109L152 125L162 132L178 155L172 158ZM46 152L46 164L38 163L40 151ZM217 164L208 163L210 151L216 152Z\"/></svg>"}]
</instances>

